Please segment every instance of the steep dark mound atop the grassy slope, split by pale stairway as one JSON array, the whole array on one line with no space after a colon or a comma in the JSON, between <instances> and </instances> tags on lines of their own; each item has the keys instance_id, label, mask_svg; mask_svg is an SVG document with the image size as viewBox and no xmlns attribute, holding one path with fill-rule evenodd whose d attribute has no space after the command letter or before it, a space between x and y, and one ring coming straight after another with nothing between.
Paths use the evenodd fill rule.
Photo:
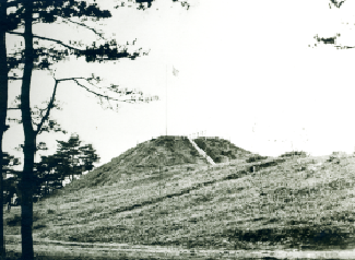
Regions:
<instances>
[{"instance_id":1,"label":"steep dark mound atop the grassy slope, split by pale stairway","mask_svg":"<svg viewBox=\"0 0 355 260\"><path fill-rule=\"evenodd\" d=\"M234 159L245 158L250 152L235 146L229 141L209 138L218 153L230 153ZM214 140L214 141L213 141ZM211 145L212 146L212 145ZM217 162L218 163L218 162ZM69 184L67 189L80 189L103 185L113 185L127 179L141 179L157 173L168 174L170 170L191 170L208 166L205 157L201 156L186 137L158 137L126 151L108 164L97 167L80 178L80 181Z\"/></svg>"}]
</instances>

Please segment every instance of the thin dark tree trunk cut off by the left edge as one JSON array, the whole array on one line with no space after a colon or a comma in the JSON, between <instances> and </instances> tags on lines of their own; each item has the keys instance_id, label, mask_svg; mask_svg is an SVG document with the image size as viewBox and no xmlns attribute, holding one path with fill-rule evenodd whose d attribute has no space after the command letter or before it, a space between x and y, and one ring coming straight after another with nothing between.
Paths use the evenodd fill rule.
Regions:
<instances>
[{"instance_id":1,"label":"thin dark tree trunk cut off by the left edge","mask_svg":"<svg viewBox=\"0 0 355 260\"><path fill-rule=\"evenodd\" d=\"M2 181L2 138L7 131L8 113L8 61L7 61L7 0L0 0L0 258L5 259L5 243L3 234L3 181Z\"/></svg>"}]
</instances>

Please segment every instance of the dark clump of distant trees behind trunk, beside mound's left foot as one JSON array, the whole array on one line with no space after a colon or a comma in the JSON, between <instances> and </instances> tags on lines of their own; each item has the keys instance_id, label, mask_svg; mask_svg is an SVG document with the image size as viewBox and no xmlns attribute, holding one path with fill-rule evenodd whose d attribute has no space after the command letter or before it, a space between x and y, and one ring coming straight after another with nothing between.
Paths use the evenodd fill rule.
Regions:
<instances>
[{"instance_id":1,"label":"dark clump of distant trees behind trunk, beside mound's left foot","mask_svg":"<svg viewBox=\"0 0 355 260\"><path fill-rule=\"evenodd\" d=\"M3 201L8 201L7 197L13 197L16 193L21 203L19 184L21 182L22 172L13 169L20 164L19 158L2 153L2 173L12 176L3 180ZM99 156L93 145L82 144L78 134L72 134L68 141L57 140L56 153L43 155L40 161L34 164L34 201L61 189L68 179L73 181L75 177L92 170L94 163L98 161Z\"/></svg>"}]
</instances>

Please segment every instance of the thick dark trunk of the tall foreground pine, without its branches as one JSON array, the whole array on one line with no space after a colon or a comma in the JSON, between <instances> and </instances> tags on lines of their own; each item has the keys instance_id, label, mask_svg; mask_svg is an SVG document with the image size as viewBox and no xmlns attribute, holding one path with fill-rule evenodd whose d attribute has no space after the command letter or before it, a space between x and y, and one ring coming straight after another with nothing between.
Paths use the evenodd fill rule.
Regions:
<instances>
[{"instance_id":1,"label":"thick dark trunk of the tall foreground pine, without its branches","mask_svg":"<svg viewBox=\"0 0 355 260\"><path fill-rule=\"evenodd\" d=\"M34 187L34 161L36 152L36 132L32 126L32 115L29 105L31 78L33 70L33 34L32 34L32 13L33 1L24 1L25 8L25 67L21 87L21 115L25 135L24 142L24 166L21 178L21 236L22 236L22 259L33 260L33 187Z\"/></svg>"}]
</instances>

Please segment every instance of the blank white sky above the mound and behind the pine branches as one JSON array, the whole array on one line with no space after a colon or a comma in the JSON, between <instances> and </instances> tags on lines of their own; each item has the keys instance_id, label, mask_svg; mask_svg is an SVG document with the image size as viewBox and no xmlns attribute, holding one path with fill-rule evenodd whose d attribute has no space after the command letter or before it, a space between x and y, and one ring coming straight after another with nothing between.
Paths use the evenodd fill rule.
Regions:
<instances>
[{"instance_id":1,"label":"blank white sky above the mound and behind the pine branches","mask_svg":"<svg viewBox=\"0 0 355 260\"><path fill-rule=\"evenodd\" d=\"M113 1L104 2L109 8ZM156 1L145 12L114 10L110 20L96 25L121 44L137 38L134 48L150 49L149 56L105 64L72 60L57 66L58 79L94 72L107 82L161 98L151 104L121 104L116 113L103 109L75 84L60 84L57 101L63 110L54 111L54 118L93 143L100 164L138 142L165 134L166 111L169 135L206 131L271 156L292 149L312 155L354 152L355 52L309 47L316 34L330 37L336 33L342 34L339 44L355 45L355 12L350 12L355 10L354 0L340 10L329 9L327 0L194 0L188 11L167 2ZM75 26L37 26L34 32L62 40L95 39ZM12 38L11 44L16 40ZM173 67L179 71L177 76ZM51 75L34 73L33 104L48 101L52 86ZM13 84L11 97L15 95L19 86ZM38 141L46 141L54 153L55 140L68 138L43 134ZM16 154L12 149L21 142L21 126L12 127L4 150Z\"/></svg>"}]
</instances>

